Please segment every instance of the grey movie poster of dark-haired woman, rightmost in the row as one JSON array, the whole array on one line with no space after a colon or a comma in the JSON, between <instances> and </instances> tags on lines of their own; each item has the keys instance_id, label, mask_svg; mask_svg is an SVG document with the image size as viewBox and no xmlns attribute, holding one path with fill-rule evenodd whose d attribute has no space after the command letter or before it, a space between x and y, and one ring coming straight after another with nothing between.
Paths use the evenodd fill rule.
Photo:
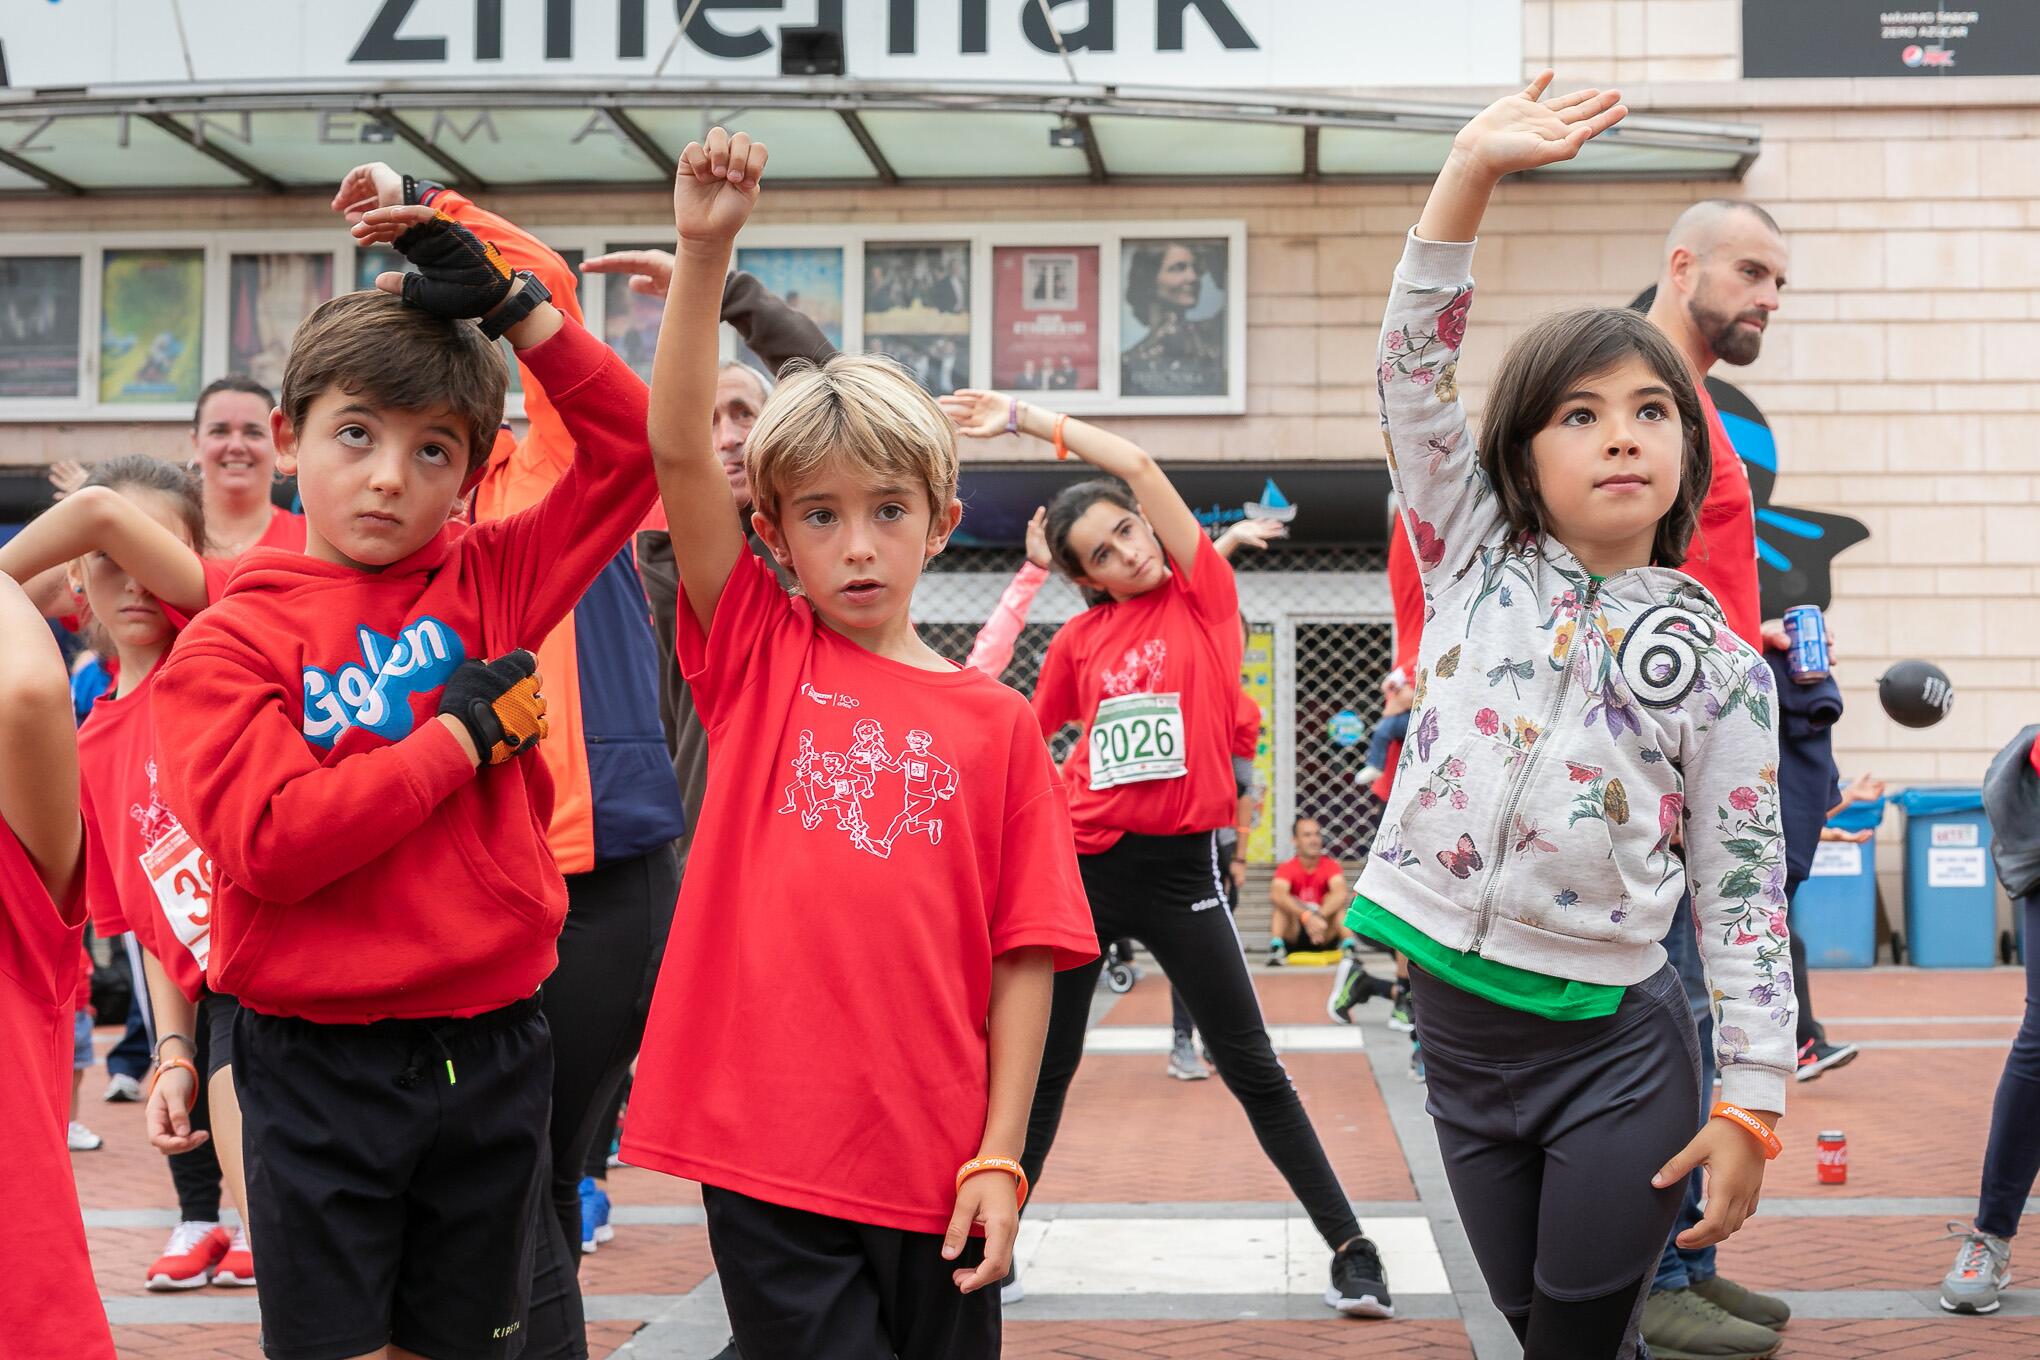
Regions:
<instances>
[{"instance_id":1,"label":"grey movie poster of dark-haired woman, rightmost in the row","mask_svg":"<svg viewBox=\"0 0 2040 1360\"><path fill-rule=\"evenodd\" d=\"M1120 396L1228 394L1226 267L1224 239L1120 243Z\"/></svg>"}]
</instances>

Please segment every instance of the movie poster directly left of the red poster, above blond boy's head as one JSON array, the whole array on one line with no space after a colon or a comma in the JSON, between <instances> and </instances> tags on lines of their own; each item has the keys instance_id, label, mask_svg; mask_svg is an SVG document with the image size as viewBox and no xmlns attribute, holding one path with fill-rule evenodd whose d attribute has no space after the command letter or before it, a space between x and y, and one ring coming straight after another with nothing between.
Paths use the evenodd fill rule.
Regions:
<instances>
[{"instance_id":1,"label":"movie poster directly left of the red poster, above blond boy's head","mask_svg":"<svg viewBox=\"0 0 2040 1360\"><path fill-rule=\"evenodd\" d=\"M971 383L971 245L865 247L865 349L891 355L922 387Z\"/></svg>"}]
</instances>

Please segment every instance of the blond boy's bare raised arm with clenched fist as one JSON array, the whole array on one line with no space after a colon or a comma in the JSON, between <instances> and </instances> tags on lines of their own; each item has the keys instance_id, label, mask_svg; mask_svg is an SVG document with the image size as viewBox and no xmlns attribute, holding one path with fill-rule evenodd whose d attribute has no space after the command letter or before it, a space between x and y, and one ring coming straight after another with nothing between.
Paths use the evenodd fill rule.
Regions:
<instances>
[{"instance_id":1,"label":"blond boy's bare raised arm with clenched fist","mask_svg":"<svg viewBox=\"0 0 2040 1360\"><path fill-rule=\"evenodd\" d=\"M710 130L687 143L673 175L673 287L659 324L651 369L653 469L673 536L679 585L706 632L716 601L745 551L728 477L716 461L710 424L716 408L716 324L730 243L749 220L765 171L765 147L745 133Z\"/></svg>"}]
</instances>

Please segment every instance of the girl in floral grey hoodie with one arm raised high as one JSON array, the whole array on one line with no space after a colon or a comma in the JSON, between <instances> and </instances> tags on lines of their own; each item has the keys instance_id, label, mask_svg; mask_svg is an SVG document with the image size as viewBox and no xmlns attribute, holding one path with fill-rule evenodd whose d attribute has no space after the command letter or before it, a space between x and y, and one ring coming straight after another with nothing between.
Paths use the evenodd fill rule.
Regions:
<instances>
[{"instance_id":1,"label":"girl in floral grey hoodie with one arm raised high","mask_svg":"<svg viewBox=\"0 0 2040 1360\"><path fill-rule=\"evenodd\" d=\"M1567 312L1512 347L1479 442L1459 400L1495 181L1626 112L1614 92L1540 104L1548 80L1459 133L1381 330L1428 610L1348 922L1412 956L1430 1111L1497 1307L1528 1356L1577 1360L1626 1354L1687 1170L1712 1181L1683 1246L1754 1209L1793 987L1771 671L1675 571L1712 467L1685 361L1636 312ZM1718 1117L1659 944L1685 893Z\"/></svg>"}]
</instances>

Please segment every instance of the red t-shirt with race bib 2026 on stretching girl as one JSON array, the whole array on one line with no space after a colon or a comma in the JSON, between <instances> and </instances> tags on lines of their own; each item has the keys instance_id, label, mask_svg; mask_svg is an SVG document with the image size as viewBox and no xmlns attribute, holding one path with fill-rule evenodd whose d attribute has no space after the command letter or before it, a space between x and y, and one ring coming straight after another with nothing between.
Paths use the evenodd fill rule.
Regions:
<instances>
[{"instance_id":1,"label":"red t-shirt with race bib 2026 on stretching girl","mask_svg":"<svg viewBox=\"0 0 2040 1360\"><path fill-rule=\"evenodd\" d=\"M1208 538L1144 595L1091 606L1049 644L1034 683L1040 732L1083 724L1063 761L1077 852L1120 836L1183 836L1238 816L1232 736L1240 593Z\"/></svg>"}]
</instances>

